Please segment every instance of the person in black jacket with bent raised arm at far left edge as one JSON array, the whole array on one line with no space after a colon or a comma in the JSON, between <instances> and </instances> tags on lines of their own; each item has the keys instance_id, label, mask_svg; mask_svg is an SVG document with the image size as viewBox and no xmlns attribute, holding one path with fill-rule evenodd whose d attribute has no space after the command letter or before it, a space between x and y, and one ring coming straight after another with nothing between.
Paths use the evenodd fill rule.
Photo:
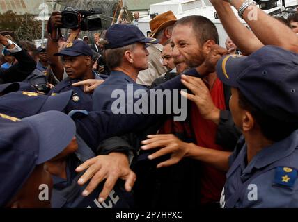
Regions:
<instances>
[{"instance_id":1,"label":"person in black jacket with bent raised arm at far left edge","mask_svg":"<svg viewBox=\"0 0 298 222\"><path fill-rule=\"evenodd\" d=\"M0 44L17 59L9 69L0 69L0 83L22 82L36 68L36 62L17 44L0 34Z\"/></svg>"}]
</instances>

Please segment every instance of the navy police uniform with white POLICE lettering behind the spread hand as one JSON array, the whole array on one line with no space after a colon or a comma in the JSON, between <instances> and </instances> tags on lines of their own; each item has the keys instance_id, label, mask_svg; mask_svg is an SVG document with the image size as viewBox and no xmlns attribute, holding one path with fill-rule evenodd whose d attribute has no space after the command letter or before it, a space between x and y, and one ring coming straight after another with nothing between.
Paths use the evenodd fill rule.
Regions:
<instances>
[{"instance_id":1,"label":"navy police uniform with white POLICE lettering behind the spread hand","mask_svg":"<svg viewBox=\"0 0 298 222\"><path fill-rule=\"evenodd\" d=\"M76 153L71 154L66 160L66 179L53 176L52 207L53 208L128 208L133 207L132 193L125 191L123 180L118 180L104 203L98 202L98 197L102 191L104 182L88 196L81 193L86 189L88 182L84 186L77 184L79 178L85 173L77 173L75 169L84 161L95 157L94 151L89 148L84 140L78 135L77 142L79 148Z\"/></svg>"}]
</instances>

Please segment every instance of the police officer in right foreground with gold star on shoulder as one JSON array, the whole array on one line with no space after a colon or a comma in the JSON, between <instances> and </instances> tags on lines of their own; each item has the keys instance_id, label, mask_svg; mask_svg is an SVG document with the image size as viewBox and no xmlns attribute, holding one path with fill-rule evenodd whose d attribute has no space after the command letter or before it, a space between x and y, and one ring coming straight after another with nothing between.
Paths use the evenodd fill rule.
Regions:
<instances>
[{"instance_id":1,"label":"police officer in right foreground with gold star on shoulder","mask_svg":"<svg viewBox=\"0 0 298 222\"><path fill-rule=\"evenodd\" d=\"M298 207L297 65L297 54L276 46L217 63L244 135L230 155L221 207Z\"/></svg>"}]
</instances>

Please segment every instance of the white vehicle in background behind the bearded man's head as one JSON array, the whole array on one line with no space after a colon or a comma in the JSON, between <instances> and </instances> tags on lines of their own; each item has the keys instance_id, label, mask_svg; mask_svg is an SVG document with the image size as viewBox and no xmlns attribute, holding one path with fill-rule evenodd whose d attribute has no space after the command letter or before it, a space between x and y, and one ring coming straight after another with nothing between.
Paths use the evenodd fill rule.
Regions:
<instances>
[{"instance_id":1,"label":"white vehicle in background behind the bearded man's head","mask_svg":"<svg viewBox=\"0 0 298 222\"><path fill-rule=\"evenodd\" d=\"M297 5L298 0L285 0L286 7L293 7ZM207 17L215 24L215 26L217 26L217 31L219 32L219 44L221 46L224 46L226 37L228 35L226 34L221 21L217 18L217 13L209 0L171 0L152 4L150 6L151 15L162 14L168 10L171 10L178 19L188 15L202 15L204 17ZM233 8L233 10L237 15L237 11L235 10L235 8ZM269 15L276 15L284 10L285 7L282 6L281 1L278 1L276 7L264 11L267 12L267 14ZM146 35L147 31L150 31L150 19L150 15L139 19L139 28L144 33L144 35ZM247 26L244 20L240 19L240 22Z\"/></svg>"}]
</instances>

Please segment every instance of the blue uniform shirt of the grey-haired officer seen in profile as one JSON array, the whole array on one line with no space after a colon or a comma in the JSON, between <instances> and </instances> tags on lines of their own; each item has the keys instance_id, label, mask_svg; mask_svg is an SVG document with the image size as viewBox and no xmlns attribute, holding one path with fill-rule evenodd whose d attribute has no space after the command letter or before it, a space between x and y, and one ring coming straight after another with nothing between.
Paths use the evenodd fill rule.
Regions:
<instances>
[{"instance_id":1,"label":"blue uniform shirt of the grey-haired officer seen in profile","mask_svg":"<svg viewBox=\"0 0 298 222\"><path fill-rule=\"evenodd\" d=\"M132 89L132 92L130 92L130 89ZM117 99L112 98L112 94L115 90L123 90L126 96L125 104L127 104L127 94L134 94L138 89L146 90L147 88L143 85L136 84L130 76L127 76L122 71L112 71L104 83L97 87L93 93L93 110L111 110L113 101Z\"/></svg>"}]
</instances>

